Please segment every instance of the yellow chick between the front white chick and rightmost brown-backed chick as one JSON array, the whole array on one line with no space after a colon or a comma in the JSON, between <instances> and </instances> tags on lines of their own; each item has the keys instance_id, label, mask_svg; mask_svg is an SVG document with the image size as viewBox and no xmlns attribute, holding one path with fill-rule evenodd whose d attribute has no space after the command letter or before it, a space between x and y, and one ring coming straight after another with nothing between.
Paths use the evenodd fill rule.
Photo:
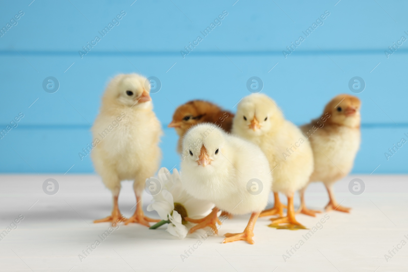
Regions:
<instances>
[{"instance_id":1,"label":"yellow chick between the front white chick and rightmost brown-backed chick","mask_svg":"<svg viewBox=\"0 0 408 272\"><path fill-rule=\"evenodd\" d=\"M238 104L232 133L257 144L268 158L273 175L275 207L262 216L282 215L278 192L288 198L286 217L271 219L271 227L304 228L295 219L294 192L303 188L313 172L313 153L302 131L283 117L273 100L263 94L244 97Z\"/></svg>"}]
</instances>

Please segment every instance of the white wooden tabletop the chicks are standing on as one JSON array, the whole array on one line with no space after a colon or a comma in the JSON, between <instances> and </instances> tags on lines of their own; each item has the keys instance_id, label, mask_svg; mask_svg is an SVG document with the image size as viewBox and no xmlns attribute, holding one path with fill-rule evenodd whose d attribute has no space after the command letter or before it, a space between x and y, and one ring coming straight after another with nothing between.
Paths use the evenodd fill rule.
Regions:
<instances>
[{"instance_id":1,"label":"white wooden tabletop the chicks are standing on","mask_svg":"<svg viewBox=\"0 0 408 272\"><path fill-rule=\"evenodd\" d=\"M358 177L366 185L361 195L348 191L348 183ZM60 188L55 195L42 190L45 179L54 178ZM23 215L0 241L0 271L408 271L408 244L399 245L391 256L388 250L405 240L408 243L408 176L349 176L335 185L342 205L350 214L324 212L317 217L298 215L298 221L312 228L327 214L328 219L306 241L308 230L269 228L267 218L255 226L254 245L244 241L222 244L222 234L241 232L249 215L224 222L220 236L203 241L184 261L181 254L197 243L197 236L179 240L166 228L149 230L133 224L121 225L85 259L78 257L109 228L109 223L94 224L94 219L111 211L111 193L96 175L1 175L0 232ZM144 210L151 197L144 195ZM273 201L273 196L270 197ZM281 199L284 201L284 197ZM322 209L327 193L322 184L306 191L310 208ZM133 214L135 197L130 181L122 182L121 212ZM295 197L295 206L299 205ZM146 212L158 218L155 212ZM404 236L406 235L406 237ZM287 250L303 240L289 257ZM391 251L392 252L392 251ZM391 259L385 259L388 254ZM186 255L185 255L186 256Z\"/></svg>"}]
</instances>

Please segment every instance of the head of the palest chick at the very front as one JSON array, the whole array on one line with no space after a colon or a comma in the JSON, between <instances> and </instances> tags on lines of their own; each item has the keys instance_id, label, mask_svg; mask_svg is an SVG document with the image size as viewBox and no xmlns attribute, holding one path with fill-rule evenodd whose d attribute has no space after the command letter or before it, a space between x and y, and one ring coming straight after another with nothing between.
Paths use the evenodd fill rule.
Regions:
<instances>
[{"instance_id":1,"label":"head of the palest chick at the very front","mask_svg":"<svg viewBox=\"0 0 408 272\"><path fill-rule=\"evenodd\" d=\"M187 131L183 139L182 168L197 173L216 173L228 161L222 155L226 133L214 124L203 123Z\"/></svg>"}]
</instances>

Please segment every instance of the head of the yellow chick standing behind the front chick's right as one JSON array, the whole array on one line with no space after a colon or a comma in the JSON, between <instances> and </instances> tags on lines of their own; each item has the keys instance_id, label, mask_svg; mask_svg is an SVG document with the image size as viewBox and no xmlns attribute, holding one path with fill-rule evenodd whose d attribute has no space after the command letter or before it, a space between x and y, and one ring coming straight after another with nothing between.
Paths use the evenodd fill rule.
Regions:
<instances>
[{"instance_id":1,"label":"head of the yellow chick standing behind the front chick's right","mask_svg":"<svg viewBox=\"0 0 408 272\"><path fill-rule=\"evenodd\" d=\"M241 136L255 137L277 130L283 122L282 112L264 94L244 97L238 104L233 131Z\"/></svg>"}]
</instances>

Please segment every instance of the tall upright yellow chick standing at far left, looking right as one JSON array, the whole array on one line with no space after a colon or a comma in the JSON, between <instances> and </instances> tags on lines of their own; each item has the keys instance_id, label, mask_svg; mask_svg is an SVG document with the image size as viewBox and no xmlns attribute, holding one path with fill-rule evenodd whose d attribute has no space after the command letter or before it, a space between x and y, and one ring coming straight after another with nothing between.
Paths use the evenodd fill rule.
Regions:
<instances>
[{"instance_id":1,"label":"tall upright yellow chick standing at far left, looking right","mask_svg":"<svg viewBox=\"0 0 408 272\"><path fill-rule=\"evenodd\" d=\"M142 191L146 178L160 166L158 146L162 128L153 112L146 78L137 74L122 74L109 82L102 97L100 113L92 127L95 148L91 157L95 170L113 195L112 214L98 222L115 224L124 217L118 207L120 181L134 180L136 210L125 223L149 226L157 221L144 216Z\"/></svg>"}]
</instances>

